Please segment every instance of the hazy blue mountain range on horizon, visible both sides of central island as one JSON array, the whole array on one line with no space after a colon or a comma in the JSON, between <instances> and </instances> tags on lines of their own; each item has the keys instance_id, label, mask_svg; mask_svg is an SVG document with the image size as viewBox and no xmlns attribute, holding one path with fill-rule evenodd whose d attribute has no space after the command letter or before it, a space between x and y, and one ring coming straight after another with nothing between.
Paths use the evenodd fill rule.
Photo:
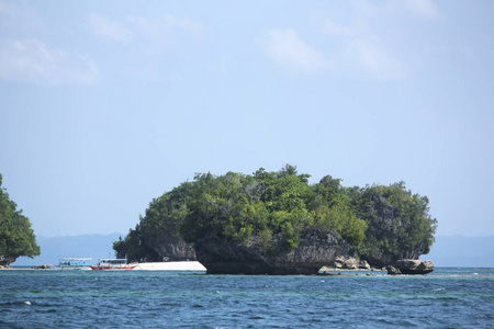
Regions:
<instances>
[{"instance_id":1,"label":"hazy blue mountain range on horizon, visible both sides of central island","mask_svg":"<svg viewBox=\"0 0 494 329\"><path fill-rule=\"evenodd\" d=\"M58 259L67 257L91 257L94 262L100 258L113 258L113 242L120 236L125 235L38 236L36 240L42 254L34 259L21 257L12 265L58 264ZM431 260L435 266L494 268L494 236L436 237L429 254L424 254L420 259Z\"/></svg>"}]
</instances>

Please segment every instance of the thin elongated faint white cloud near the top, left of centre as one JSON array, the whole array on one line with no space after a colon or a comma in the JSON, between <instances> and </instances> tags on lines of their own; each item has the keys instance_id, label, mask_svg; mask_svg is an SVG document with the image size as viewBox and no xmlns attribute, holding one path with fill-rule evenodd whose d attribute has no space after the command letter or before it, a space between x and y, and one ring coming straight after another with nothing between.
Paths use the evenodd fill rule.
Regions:
<instances>
[{"instance_id":1,"label":"thin elongated faint white cloud near the top, left of centre","mask_svg":"<svg viewBox=\"0 0 494 329\"><path fill-rule=\"evenodd\" d=\"M156 20L130 15L115 21L103 14L93 13L89 15L88 22L94 35L116 43L128 43L136 37L159 41L171 31L199 32L203 29L198 21L173 15L165 15Z\"/></svg>"}]
</instances>

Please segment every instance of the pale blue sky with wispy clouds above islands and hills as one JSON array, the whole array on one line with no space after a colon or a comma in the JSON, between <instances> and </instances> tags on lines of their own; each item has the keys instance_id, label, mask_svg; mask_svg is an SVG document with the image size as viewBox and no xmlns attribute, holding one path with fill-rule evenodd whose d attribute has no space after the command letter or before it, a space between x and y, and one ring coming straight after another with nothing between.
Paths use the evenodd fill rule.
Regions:
<instances>
[{"instance_id":1,"label":"pale blue sky with wispy clouds above islands and hills","mask_svg":"<svg viewBox=\"0 0 494 329\"><path fill-rule=\"evenodd\" d=\"M0 173L40 236L197 172L404 181L494 235L494 1L0 0Z\"/></svg>"}]
</instances>

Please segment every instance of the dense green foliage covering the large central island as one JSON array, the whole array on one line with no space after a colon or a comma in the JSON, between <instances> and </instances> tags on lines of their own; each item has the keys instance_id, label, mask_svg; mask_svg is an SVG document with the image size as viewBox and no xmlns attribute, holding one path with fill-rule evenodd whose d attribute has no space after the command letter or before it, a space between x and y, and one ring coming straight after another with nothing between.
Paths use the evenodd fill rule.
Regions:
<instances>
[{"instance_id":1,"label":"dense green foliage covering the large central island","mask_svg":"<svg viewBox=\"0 0 494 329\"><path fill-rule=\"evenodd\" d=\"M412 194L403 183L360 189L344 188L330 175L316 184L308 184L308 178L290 164L251 175L195 174L192 182L153 200L136 229L114 249L139 259L151 256L146 240L181 236L189 242L226 239L274 254L299 247L307 230L332 234L357 253L377 257L415 257L434 242L436 220L428 215L427 197Z\"/></svg>"}]
</instances>

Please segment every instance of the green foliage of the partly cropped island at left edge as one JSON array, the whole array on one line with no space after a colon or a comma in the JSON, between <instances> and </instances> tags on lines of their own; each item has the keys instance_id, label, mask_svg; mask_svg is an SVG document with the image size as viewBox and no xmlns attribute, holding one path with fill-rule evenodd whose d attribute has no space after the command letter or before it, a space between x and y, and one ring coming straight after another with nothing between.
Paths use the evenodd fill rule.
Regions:
<instances>
[{"instance_id":1,"label":"green foliage of the partly cropped island at left edge","mask_svg":"<svg viewBox=\"0 0 494 329\"><path fill-rule=\"evenodd\" d=\"M36 237L31 229L30 219L16 209L2 188L0 174L0 257L18 258L40 254Z\"/></svg>"}]
</instances>

